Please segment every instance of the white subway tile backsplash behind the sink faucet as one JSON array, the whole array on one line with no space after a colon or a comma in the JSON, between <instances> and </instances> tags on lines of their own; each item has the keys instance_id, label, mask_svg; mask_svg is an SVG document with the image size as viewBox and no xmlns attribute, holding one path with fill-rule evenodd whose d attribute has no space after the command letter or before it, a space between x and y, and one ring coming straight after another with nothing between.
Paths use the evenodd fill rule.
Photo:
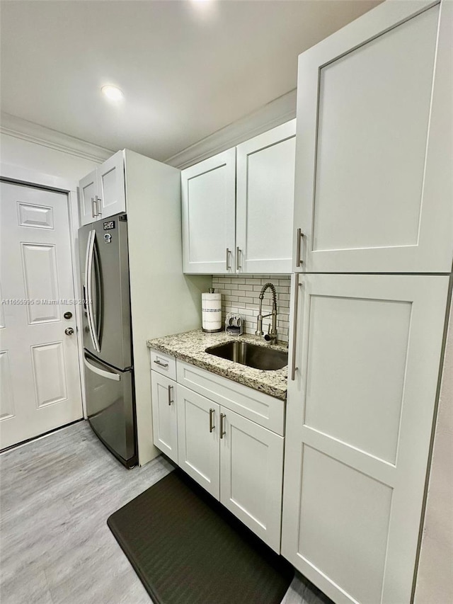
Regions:
<instances>
[{"instance_id":1,"label":"white subway tile backsplash behind the sink faucet","mask_svg":"<svg viewBox=\"0 0 453 604\"><path fill-rule=\"evenodd\" d=\"M289 334L289 295L291 278L289 275L212 275L212 287L222 294L222 324L228 312L241 314L246 334L255 334L256 317L261 287L273 283L277 292L277 332L278 340L287 342ZM263 314L272 312L272 291L265 291ZM268 332L272 317L263 319L263 331Z\"/></svg>"}]
</instances>

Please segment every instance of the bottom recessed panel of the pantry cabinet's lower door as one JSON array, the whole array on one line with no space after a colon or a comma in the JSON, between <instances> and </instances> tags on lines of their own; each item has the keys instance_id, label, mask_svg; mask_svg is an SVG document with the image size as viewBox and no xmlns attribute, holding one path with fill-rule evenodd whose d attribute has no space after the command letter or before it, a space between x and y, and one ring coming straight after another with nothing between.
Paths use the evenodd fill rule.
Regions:
<instances>
[{"instance_id":1,"label":"bottom recessed panel of the pantry cabinet's lower door","mask_svg":"<svg viewBox=\"0 0 453 604\"><path fill-rule=\"evenodd\" d=\"M380 602L391 487L304 445L300 492L297 538L304 557L357 602ZM345 552L351 537L360 552L353 562Z\"/></svg>"}]
</instances>

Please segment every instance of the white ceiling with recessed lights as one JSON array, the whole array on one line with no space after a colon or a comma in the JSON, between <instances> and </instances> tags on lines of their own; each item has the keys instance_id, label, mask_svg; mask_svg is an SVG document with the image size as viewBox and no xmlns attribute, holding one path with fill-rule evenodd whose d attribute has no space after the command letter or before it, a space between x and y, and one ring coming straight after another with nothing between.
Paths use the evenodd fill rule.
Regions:
<instances>
[{"instance_id":1,"label":"white ceiling with recessed lights","mask_svg":"<svg viewBox=\"0 0 453 604\"><path fill-rule=\"evenodd\" d=\"M297 56L379 1L2 0L1 108L164 161L294 89Z\"/></svg>"}]
</instances>

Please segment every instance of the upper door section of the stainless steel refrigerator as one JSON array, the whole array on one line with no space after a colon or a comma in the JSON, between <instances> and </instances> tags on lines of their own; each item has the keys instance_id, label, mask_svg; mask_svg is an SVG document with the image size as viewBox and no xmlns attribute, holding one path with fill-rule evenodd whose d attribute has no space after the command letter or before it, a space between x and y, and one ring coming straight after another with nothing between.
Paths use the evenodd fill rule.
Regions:
<instances>
[{"instance_id":1,"label":"upper door section of the stainless steel refrigerator","mask_svg":"<svg viewBox=\"0 0 453 604\"><path fill-rule=\"evenodd\" d=\"M129 258L124 215L79 230L84 348L112 367L132 366Z\"/></svg>"}]
</instances>

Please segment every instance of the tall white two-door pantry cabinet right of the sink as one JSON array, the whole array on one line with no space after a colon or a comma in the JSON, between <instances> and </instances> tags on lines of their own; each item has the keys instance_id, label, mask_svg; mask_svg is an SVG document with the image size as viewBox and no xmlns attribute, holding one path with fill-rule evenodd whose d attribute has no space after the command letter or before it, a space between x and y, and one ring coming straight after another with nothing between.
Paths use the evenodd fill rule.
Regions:
<instances>
[{"instance_id":1,"label":"tall white two-door pantry cabinet right of the sink","mask_svg":"<svg viewBox=\"0 0 453 604\"><path fill-rule=\"evenodd\" d=\"M453 258L452 9L389 0L299 57L282 554L341 604L413 597Z\"/></svg>"}]
</instances>

